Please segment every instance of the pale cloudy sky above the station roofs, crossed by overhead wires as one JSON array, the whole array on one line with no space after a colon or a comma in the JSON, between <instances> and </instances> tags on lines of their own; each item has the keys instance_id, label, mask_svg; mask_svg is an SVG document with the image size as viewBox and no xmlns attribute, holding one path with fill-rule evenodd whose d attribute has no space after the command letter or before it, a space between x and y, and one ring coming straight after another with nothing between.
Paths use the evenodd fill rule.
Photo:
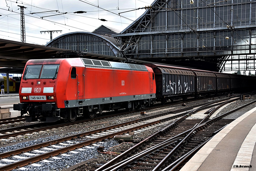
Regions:
<instances>
[{"instance_id":1,"label":"pale cloudy sky above the station roofs, crossed by overhead wires","mask_svg":"<svg viewBox=\"0 0 256 171\"><path fill-rule=\"evenodd\" d=\"M26 7L26 43L46 45L50 41L50 33L40 31L62 30L53 32L53 39L76 31L92 32L101 25L122 31L145 12L145 9L138 8L149 6L153 2L154 0L1 0L0 39L21 41L19 6ZM86 13L74 13L77 11Z\"/></svg>"}]
</instances>

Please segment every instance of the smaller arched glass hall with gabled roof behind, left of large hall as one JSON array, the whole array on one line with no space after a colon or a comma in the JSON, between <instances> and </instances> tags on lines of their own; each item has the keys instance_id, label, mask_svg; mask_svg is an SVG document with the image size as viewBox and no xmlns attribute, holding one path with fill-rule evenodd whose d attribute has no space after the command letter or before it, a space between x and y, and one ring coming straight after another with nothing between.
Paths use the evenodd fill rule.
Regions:
<instances>
[{"instance_id":1,"label":"smaller arched glass hall with gabled roof behind, left of large hall","mask_svg":"<svg viewBox=\"0 0 256 171\"><path fill-rule=\"evenodd\" d=\"M115 29L111 30L110 27L102 25L95 29L94 33L73 32L63 34L48 42L46 46L109 56L119 56L120 45L118 39L110 37L110 35L114 33L118 33L118 31Z\"/></svg>"}]
</instances>

